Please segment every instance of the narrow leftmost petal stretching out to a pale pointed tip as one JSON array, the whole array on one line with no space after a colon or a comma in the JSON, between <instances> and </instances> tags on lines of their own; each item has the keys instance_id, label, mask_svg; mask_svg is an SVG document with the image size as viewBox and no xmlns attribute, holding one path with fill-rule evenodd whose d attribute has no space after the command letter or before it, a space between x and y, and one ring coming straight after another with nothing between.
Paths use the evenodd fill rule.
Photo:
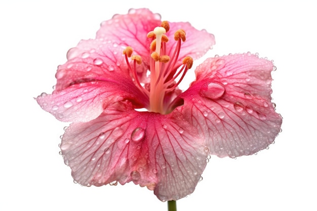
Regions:
<instances>
[{"instance_id":1,"label":"narrow leftmost petal stretching out to a pale pointed tip","mask_svg":"<svg viewBox=\"0 0 317 211\"><path fill-rule=\"evenodd\" d=\"M108 104L127 99L136 108L145 107L144 103L148 102L132 81L122 78L117 81L80 81L52 95L43 93L36 101L60 121L86 122L97 118Z\"/></svg>"}]
</instances>

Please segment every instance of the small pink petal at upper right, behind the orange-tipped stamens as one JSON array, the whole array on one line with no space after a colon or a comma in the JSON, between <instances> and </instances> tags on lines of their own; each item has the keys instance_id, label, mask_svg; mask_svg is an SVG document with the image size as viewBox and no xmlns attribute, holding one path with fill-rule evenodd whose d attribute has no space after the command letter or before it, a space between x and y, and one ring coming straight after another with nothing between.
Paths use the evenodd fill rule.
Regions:
<instances>
[{"instance_id":1,"label":"small pink petal at upper right, behind the orange-tipped stamens","mask_svg":"<svg viewBox=\"0 0 317 211\"><path fill-rule=\"evenodd\" d=\"M197 30L188 22L169 22L169 24L170 31L166 33L169 37L169 41L167 42L168 55L172 55L176 48L177 42L174 39L176 30L183 29L186 32L186 40L181 44L178 57L178 62L180 64L186 56L190 56L193 59L199 59L204 56L207 51L212 49L213 45L215 45L215 36L208 33L206 30Z\"/></svg>"}]
</instances>

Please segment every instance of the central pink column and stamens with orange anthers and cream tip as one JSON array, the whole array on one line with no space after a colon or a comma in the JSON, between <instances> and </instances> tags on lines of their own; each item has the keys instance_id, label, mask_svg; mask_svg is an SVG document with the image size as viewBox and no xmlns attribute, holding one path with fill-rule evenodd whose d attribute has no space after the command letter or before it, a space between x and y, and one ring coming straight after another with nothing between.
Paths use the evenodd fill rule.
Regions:
<instances>
[{"instance_id":1,"label":"central pink column and stamens with orange anthers and cream tip","mask_svg":"<svg viewBox=\"0 0 317 211\"><path fill-rule=\"evenodd\" d=\"M169 28L168 22L163 21L160 27L154 28L153 31L147 34L148 38L152 38L149 55L149 90L141 85L136 71L136 64L142 63L141 57L138 55L132 56L133 50L131 47L127 47L123 52L138 88L149 98L148 111L162 114L170 113L177 106L177 102L174 100L180 91L177 93L176 88L193 62L191 57L185 57L182 64L179 64L178 56L181 43L186 40L186 33L182 29L174 33L177 45L173 54L167 55L166 43L169 38L165 33L169 31ZM128 57L134 60L133 67L130 65Z\"/></svg>"}]
</instances>

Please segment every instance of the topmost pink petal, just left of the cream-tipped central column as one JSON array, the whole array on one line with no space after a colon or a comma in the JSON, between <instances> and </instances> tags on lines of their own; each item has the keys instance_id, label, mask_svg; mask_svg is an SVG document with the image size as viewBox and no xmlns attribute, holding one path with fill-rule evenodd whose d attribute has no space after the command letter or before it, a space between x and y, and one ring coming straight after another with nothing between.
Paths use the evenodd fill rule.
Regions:
<instances>
[{"instance_id":1,"label":"topmost pink petal, just left of the cream-tipped central column","mask_svg":"<svg viewBox=\"0 0 317 211\"><path fill-rule=\"evenodd\" d=\"M161 25L161 16L148 9L130 9L128 14L114 15L111 20L101 23L96 38L102 38L114 46L132 47L134 55L142 57L142 64L137 66L140 81L144 82L149 69L149 47L151 39L147 33Z\"/></svg>"}]
</instances>

